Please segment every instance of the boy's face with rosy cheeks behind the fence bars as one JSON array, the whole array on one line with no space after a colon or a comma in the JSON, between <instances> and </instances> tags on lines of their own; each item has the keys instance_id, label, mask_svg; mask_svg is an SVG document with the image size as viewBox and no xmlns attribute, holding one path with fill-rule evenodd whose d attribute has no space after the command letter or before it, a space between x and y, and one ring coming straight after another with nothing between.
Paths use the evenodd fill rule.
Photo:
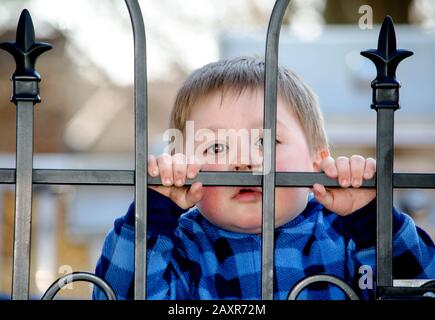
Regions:
<instances>
[{"instance_id":1,"label":"boy's face with rosy cheeks behind the fence bars","mask_svg":"<svg viewBox=\"0 0 435 320\"><path fill-rule=\"evenodd\" d=\"M281 97L277 101L277 119L276 171L314 171L321 160L320 152L314 157L310 155L302 126ZM192 107L189 120L194 122L195 134L201 129L216 132L215 138L209 135L195 142L196 154L200 153L209 162L203 165L202 171L262 170L263 90L246 89L240 95L229 91L223 98L221 92L209 94ZM225 135L217 134L218 129L221 133L225 132L222 130L230 132L229 129L249 132L250 141L239 135L230 142ZM251 152L248 159L246 150ZM275 227L304 210L308 193L308 188L276 188ZM207 220L223 229L261 233L261 188L204 187L197 206Z\"/></svg>"}]
</instances>

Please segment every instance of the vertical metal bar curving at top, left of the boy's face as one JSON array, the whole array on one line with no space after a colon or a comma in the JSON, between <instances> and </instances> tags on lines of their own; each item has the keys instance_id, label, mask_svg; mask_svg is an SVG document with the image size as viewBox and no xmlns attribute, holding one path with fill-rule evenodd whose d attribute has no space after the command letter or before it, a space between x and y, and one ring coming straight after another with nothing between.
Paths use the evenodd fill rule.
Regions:
<instances>
[{"instance_id":1,"label":"vertical metal bar curving at top, left of the boy's face","mask_svg":"<svg viewBox=\"0 0 435 320\"><path fill-rule=\"evenodd\" d=\"M147 227L147 79L146 42L142 13L137 0L125 0L134 36L135 100L135 250L134 299L146 297L146 227Z\"/></svg>"}]
</instances>

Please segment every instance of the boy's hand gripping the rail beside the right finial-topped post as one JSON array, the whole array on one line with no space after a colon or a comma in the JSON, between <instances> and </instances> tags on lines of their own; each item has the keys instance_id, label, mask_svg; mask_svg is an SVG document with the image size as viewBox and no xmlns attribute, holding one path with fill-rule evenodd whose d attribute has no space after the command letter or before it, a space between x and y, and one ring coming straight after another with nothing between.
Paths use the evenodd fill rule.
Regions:
<instances>
[{"instance_id":1,"label":"boy's hand gripping the rail beside the right finial-topped post","mask_svg":"<svg viewBox=\"0 0 435 320\"><path fill-rule=\"evenodd\" d=\"M350 159L338 157L334 160L332 157L327 157L322 160L320 169L329 178L337 178L340 186L345 188L325 189L321 184L313 186L317 201L328 210L346 216L367 205L376 197L375 189L357 189L363 179L373 178L376 172L376 161L373 158L365 159L354 155ZM350 186L353 188L349 188Z\"/></svg>"}]
</instances>

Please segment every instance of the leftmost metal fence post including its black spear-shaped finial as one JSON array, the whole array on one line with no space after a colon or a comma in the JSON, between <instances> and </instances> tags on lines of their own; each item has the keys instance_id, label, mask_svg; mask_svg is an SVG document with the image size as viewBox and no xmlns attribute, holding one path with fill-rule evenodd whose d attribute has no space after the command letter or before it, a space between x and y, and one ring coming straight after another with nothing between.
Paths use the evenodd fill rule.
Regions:
<instances>
[{"instance_id":1,"label":"leftmost metal fence post including its black spear-shaped finial","mask_svg":"<svg viewBox=\"0 0 435 320\"><path fill-rule=\"evenodd\" d=\"M13 55L16 70L12 75L11 101L17 106L17 153L15 177L14 258L12 299L29 297L30 231L32 221L33 106L41 101L40 75L35 62L40 54L52 48L35 42L32 18L23 10L18 22L16 42L4 42L0 48Z\"/></svg>"}]
</instances>

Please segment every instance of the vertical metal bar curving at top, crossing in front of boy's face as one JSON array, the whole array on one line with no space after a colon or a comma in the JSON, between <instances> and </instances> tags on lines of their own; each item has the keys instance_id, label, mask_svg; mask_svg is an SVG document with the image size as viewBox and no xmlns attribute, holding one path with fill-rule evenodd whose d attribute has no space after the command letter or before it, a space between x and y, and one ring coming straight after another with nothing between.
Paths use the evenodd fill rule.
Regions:
<instances>
[{"instance_id":1,"label":"vertical metal bar curving at top, crossing in front of boy's face","mask_svg":"<svg viewBox=\"0 0 435 320\"><path fill-rule=\"evenodd\" d=\"M277 0L272 10L266 38L264 77L264 165L261 298L273 300L275 232L275 137L278 80L278 44L282 18L289 0ZM270 131L270 134L267 132Z\"/></svg>"}]
</instances>

